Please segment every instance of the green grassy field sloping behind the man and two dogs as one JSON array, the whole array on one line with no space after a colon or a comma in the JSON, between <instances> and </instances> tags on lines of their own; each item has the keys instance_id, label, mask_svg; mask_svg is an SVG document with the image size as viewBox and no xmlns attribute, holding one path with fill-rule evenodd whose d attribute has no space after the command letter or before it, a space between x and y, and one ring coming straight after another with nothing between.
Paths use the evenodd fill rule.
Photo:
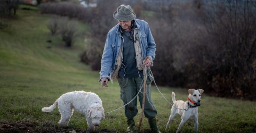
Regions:
<instances>
[{"instance_id":1,"label":"green grassy field sloping behind the man and two dogs","mask_svg":"<svg viewBox=\"0 0 256 133\"><path fill-rule=\"evenodd\" d=\"M111 16L110 16L111 17ZM61 38L51 36L47 29L50 15L40 14L37 10L19 10L14 18L5 19L9 26L0 29L0 132L6 132L3 123L34 123L33 129L58 132L60 119L58 109L43 113L42 107L50 106L63 93L85 90L97 93L105 112L122 106L117 82L103 88L98 82L99 72L91 71L89 66L79 61L83 52L84 38L78 37L71 48L64 46ZM86 32L88 26L78 22L79 32ZM47 43L52 40L52 43ZM103 45L103 44L102 44ZM155 64L157 65L157 64ZM186 101L187 89L159 87L171 101L171 92L176 99ZM158 127L162 132L175 132L180 117L167 131L165 124L171 106L153 87L152 98L158 110ZM256 132L256 102L202 96L199 106L199 132ZM140 112L135 118L138 126ZM149 126L143 119L142 131ZM29 125L29 124L28 124ZM11 127L14 127L13 125ZM9 128L11 128L9 127ZM86 120L82 114L74 113L68 129L85 131ZM18 129L17 129L18 130ZM98 132L125 132L124 109L107 114ZM47 131L45 131L47 132ZM188 121L181 132L194 132L194 122Z\"/></svg>"}]
</instances>

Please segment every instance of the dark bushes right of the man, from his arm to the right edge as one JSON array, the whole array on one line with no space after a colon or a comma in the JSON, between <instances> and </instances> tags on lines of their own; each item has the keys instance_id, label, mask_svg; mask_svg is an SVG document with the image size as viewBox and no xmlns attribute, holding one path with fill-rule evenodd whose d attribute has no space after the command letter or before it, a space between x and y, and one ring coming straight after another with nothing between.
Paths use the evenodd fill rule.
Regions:
<instances>
[{"instance_id":1,"label":"dark bushes right of the man, from his arm to the right edge","mask_svg":"<svg viewBox=\"0 0 256 133\"><path fill-rule=\"evenodd\" d=\"M197 1L163 9L156 14L159 21L149 19L158 46L153 70L159 84L255 99L255 2Z\"/></svg>"}]
</instances>

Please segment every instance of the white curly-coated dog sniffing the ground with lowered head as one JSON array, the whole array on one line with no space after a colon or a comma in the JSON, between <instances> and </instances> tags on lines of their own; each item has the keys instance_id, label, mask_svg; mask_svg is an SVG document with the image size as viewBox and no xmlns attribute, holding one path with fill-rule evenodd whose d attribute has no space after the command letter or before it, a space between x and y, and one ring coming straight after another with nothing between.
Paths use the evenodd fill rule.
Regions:
<instances>
[{"instance_id":1,"label":"white curly-coated dog sniffing the ground with lowered head","mask_svg":"<svg viewBox=\"0 0 256 133\"><path fill-rule=\"evenodd\" d=\"M63 94L50 107L43 107L43 112L51 112L58 105L61 119L60 126L68 126L74 109L85 115L89 130L99 126L100 120L105 118L100 97L92 92L75 91Z\"/></svg>"}]
</instances>

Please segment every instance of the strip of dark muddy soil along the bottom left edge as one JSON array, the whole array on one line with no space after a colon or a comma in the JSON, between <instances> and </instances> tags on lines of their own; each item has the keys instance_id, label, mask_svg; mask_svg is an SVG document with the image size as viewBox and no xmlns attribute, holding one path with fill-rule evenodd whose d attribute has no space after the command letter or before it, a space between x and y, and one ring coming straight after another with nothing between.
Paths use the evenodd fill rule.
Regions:
<instances>
[{"instance_id":1,"label":"strip of dark muddy soil along the bottom left edge","mask_svg":"<svg viewBox=\"0 0 256 133\"><path fill-rule=\"evenodd\" d=\"M49 132L68 132L68 133L84 133L88 132L86 129L70 129L70 128L59 128L55 126L53 123L40 123L40 122L7 122L2 121L0 122L0 132L42 132L42 133L49 133ZM108 129L103 129L97 131L100 133L114 133L117 131L110 131ZM149 133L149 130L142 131L144 133Z\"/></svg>"}]
</instances>

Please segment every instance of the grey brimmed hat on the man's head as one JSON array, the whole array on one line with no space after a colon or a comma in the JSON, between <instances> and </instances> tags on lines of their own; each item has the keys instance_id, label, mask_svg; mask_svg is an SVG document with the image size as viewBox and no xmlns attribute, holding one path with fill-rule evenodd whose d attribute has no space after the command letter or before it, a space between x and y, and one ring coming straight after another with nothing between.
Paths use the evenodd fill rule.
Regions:
<instances>
[{"instance_id":1,"label":"grey brimmed hat on the man's head","mask_svg":"<svg viewBox=\"0 0 256 133\"><path fill-rule=\"evenodd\" d=\"M113 14L114 18L121 21L131 21L136 18L130 5L120 5Z\"/></svg>"}]
</instances>

